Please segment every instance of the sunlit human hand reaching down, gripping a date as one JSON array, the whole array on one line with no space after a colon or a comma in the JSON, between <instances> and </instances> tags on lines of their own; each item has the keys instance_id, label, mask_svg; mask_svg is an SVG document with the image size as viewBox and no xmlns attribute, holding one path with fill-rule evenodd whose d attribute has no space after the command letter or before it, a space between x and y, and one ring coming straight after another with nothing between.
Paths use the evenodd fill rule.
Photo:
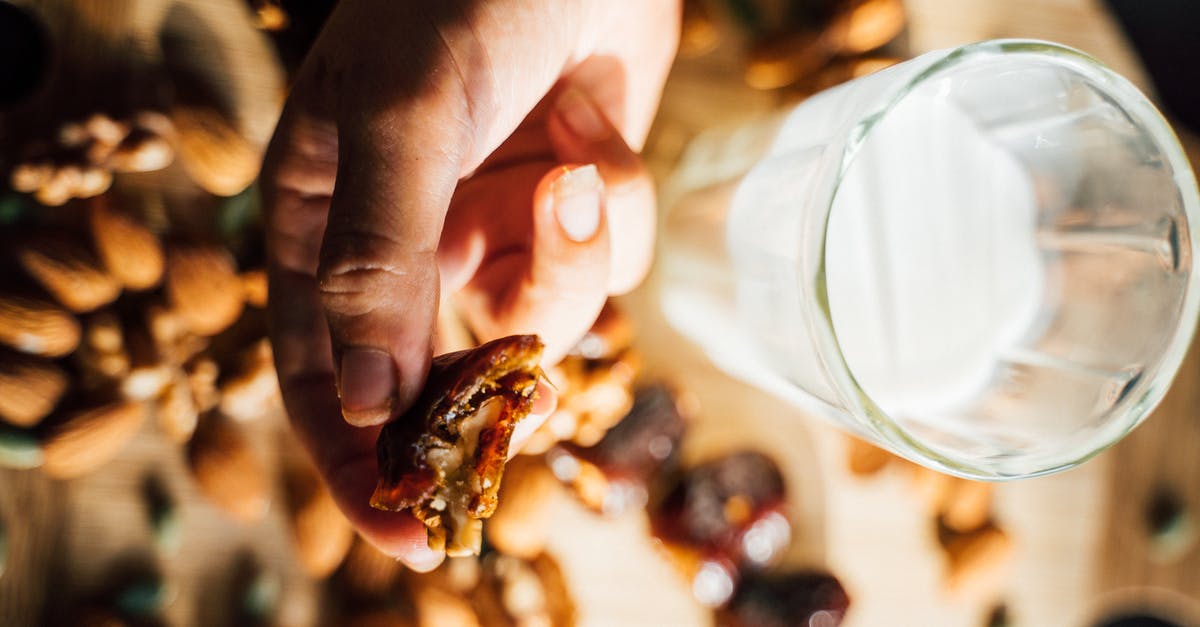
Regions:
<instances>
[{"instance_id":1,"label":"sunlit human hand reaching down, gripping a date","mask_svg":"<svg viewBox=\"0 0 1200 627\"><path fill-rule=\"evenodd\" d=\"M439 304L481 341L538 333L550 364L642 279L636 150L678 12L346 0L296 78L262 175L280 384L347 518L415 569L442 560L421 524L368 506L379 425L424 384Z\"/></svg>"}]
</instances>

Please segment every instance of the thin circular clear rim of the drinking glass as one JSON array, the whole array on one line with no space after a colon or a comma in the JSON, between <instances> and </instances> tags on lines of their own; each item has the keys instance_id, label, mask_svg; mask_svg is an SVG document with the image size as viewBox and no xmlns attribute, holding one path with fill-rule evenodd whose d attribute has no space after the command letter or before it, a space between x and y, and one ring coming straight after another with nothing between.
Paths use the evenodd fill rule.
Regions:
<instances>
[{"instance_id":1,"label":"thin circular clear rim of the drinking glass","mask_svg":"<svg viewBox=\"0 0 1200 627\"><path fill-rule=\"evenodd\" d=\"M932 54L936 54L936 52ZM853 163L859 148L871 137L872 129L919 85L962 66L968 60L979 56L1010 54L1034 54L1038 59L1051 61L1060 67L1080 73L1085 78L1104 85L1106 89L1105 94L1112 97L1116 104L1130 115L1164 153L1166 162L1171 166L1174 181L1182 197L1183 214L1188 225L1189 258L1196 259L1198 255L1200 255L1200 240L1198 240L1196 234L1196 228L1200 227L1200 191L1196 189L1196 179L1178 137L1171 130L1170 124L1163 114L1136 86L1093 56L1068 46L1040 40L989 40L952 48L914 76L898 82L896 85L887 89L877 98L877 106L859 117L858 121L854 123L848 133L848 139L841 147L839 159L835 160L835 168L830 168L823 174L824 185L818 187L822 197L818 198L817 204L824 209L824 222L820 226L822 232L816 281L815 285L810 286L811 289L804 292L804 298L810 301L815 300L816 309L821 311L821 316L815 316L814 324L818 354L821 356L826 372L832 378L847 410L860 419L865 418L868 424L864 426L875 436L894 447L904 456L914 461L919 460L925 465L932 465L949 474L970 479L1004 480L1050 474L1078 466L1118 442L1124 435L1145 420L1166 394L1190 347L1196 328L1198 312L1200 312L1200 289L1198 289L1198 286L1200 286L1200 273L1190 268L1188 277L1184 281L1184 295L1178 324L1171 334L1166 347L1153 362L1153 365L1147 369L1150 376L1141 377L1141 381L1129 390L1129 394L1109 410L1112 417L1097 428L1094 432L1086 438L1081 438L1079 443L1061 455L1039 456L1039 460L1049 459L1049 461L1042 461L1039 466L1028 468L1026 472L1004 472L988 465L980 465L953 454L936 450L930 444L923 442L919 435L911 432L900 422L888 416L859 386L850 370L850 365L846 363L841 345L838 341L838 334L833 327L833 314L829 306L828 283L826 279L829 216L832 215L833 201L840 189L841 180L851 163ZM916 59L919 59L919 56Z\"/></svg>"}]
</instances>

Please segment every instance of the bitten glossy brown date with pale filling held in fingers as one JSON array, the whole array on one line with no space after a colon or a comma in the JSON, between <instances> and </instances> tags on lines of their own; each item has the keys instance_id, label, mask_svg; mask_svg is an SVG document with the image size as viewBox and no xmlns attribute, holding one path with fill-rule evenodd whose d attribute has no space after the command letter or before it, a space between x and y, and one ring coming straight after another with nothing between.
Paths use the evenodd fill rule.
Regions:
<instances>
[{"instance_id":1,"label":"bitten glossy brown date with pale filling held in fingers","mask_svg":"<svg viewBox=\"0 0 1200 627\"><path fill-rule=\"evenodd\" d=\"M511 335L433 358L421 396L379 434L377 509L412 509L430 548L478 554L496 512L512 428L542 372L536 335Z\"/></svg>"}]
</instances>

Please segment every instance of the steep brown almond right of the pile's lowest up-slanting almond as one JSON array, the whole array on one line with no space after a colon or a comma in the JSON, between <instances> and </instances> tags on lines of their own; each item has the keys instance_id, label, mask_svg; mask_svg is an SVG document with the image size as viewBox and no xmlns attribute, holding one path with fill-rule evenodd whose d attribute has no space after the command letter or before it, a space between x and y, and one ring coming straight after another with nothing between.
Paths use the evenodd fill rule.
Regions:
<instances>
[{"instance_id":1,"label":"steep brown almond right of the pile's lowest up-slanting almond","mask_svg":"<svg viewBox=\"0 0 1200 627\"><path fill-rule=\"evenodd\" d=\"M266 515L271 503L266 472L246 435L228 418L218 413L200 418L187 460L200 490L227 514L242 522Z\"/></svg>"}]
</instances>

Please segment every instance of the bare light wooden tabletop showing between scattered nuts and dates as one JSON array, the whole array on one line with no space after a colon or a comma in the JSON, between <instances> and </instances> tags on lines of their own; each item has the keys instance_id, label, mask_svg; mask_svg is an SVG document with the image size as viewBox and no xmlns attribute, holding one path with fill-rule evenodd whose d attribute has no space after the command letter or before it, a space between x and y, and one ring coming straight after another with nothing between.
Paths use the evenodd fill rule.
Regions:
<instances>
[{"instance_id":1,"label":"bare light wooden tabletop showing between scattered nuts and dates","mask_svg":"<svg viewBox=\"0 0 1200 627\"><path fill-rule=\"evenodd\" d=\"M148 0L146 0L148 1ZM198 2L199 4L199 2ZM1076 46L1146 85L1135 58L1098 2L1088 0L907 0L912 52L988 37L1044 37ZM161 14L161 13L160 13ZM659 175L697 131L770 111L778 98L745 88L730 55L680 61L667 86L647 157ZM697 422L685 442L695 461L736 448L785 465L797 537L785 563L836 573L853 598L847 627L982 627L996 603L1012 625L1088 627L1100 613L1141 603L1200 625L1200 551L1152 557L1146 500L1163 486L1200 512L1200 362L1184 364L1162 408L1111 452L1078 470L997 494L997 518L1014 539L1008 577L977 595L949 596L928 512L906 474L860 479L845 468L846 438L828 425L731 381L662 321L655 280L622 304L635 315L646 378L679 382ZM250 425L272 468L292 452L280 417ZM138 486L157 477L181 506L178 555L150 543ZM278 482L275 482L278 484ZM0 577L0 625L31 625L43 607L110 585L122 565L162 571L175 592L170 625L220 625L229 616L232 569L251 555L278 578L281 625L311 625L316 584L287 548L281 489L266 520L244 526L197 492L182 454L151 424L102 472L70 483L37 472L0 472L0 518L8 529ZM552 553L562 561L588 626L706 625L683 581L661 560L640 514L605 520L565 496L552 506ZM1200 515L1200 514L1194 514ZM1195 524L1200 524L1196 521Z\"/></svg>"}]
</instances>

